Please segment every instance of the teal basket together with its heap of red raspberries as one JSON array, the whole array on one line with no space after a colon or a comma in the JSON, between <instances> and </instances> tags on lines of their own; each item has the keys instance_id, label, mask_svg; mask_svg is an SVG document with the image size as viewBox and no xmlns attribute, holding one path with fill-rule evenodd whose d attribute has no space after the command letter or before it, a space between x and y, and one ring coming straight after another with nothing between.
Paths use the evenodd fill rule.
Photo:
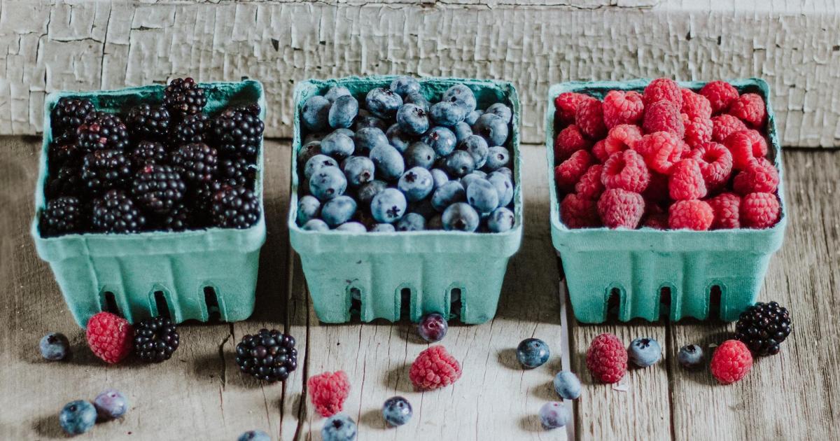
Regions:
<instances>
[{"instance_id":1,"label":"teal basket together with its heap of red raspberries","mask_svg":"<svg viewBox=\"0 0 840 441\"><path fill-rule=\"evenodd\" d=\"M576 318L737 319L785 232L767 84L570 82L549 100L552 239Z\"/></svg>"}]
</instances>

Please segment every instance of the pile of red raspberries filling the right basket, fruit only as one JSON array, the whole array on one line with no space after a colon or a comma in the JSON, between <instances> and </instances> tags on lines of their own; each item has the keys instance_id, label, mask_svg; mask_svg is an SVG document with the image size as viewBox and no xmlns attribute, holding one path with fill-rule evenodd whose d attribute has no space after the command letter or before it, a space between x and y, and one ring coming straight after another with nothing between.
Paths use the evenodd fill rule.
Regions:
<instances>
[{"instance_id":1,"label":"pile of red raspberries filling the right basket, fruit only","mask_svg":"<svg viewBox=\"0 0 840 441\"><path fill-rule=\"evenodd\" d=\"M554 179L569 228L769 228L779 171L767 109L725 81L554 98Z\"/></svg>"}]
</instances>

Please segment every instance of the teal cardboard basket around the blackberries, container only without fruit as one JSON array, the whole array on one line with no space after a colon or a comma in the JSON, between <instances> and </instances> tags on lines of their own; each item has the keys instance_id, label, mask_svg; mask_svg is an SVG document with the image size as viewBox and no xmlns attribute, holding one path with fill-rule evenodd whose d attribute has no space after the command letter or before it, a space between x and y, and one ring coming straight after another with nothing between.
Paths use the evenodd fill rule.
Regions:
<instances>
[{"instance_id":1,"label":"teal cardboard basket around the blackberries, container only without fruit","mask_svg":"<svg viewBox=\"0 0 840 441\"><path fill-rule=\"evenodd\" d=\"M258 102L265 120L265 97L259 81L202 83L205 111L214 113L229 103ZM84 97L101 110L125 111L144 100L160 102L164 86L129 87L113 91L54 92L45 100L44 144L35 217L31 234L41 259L50 263L67 307L81 327L101 311L121 314L134 323L168 314L181 323L215 318L244 320L254 311L260 248L265 242L265 218L251 228L207 228L184 232L137 234L67 234L42 237L39 215L45 207L47 149L52 139L50 113L61 97ZM262 209L263 152L260 144L255 190Z\"/></svg>"}]
</instances>

